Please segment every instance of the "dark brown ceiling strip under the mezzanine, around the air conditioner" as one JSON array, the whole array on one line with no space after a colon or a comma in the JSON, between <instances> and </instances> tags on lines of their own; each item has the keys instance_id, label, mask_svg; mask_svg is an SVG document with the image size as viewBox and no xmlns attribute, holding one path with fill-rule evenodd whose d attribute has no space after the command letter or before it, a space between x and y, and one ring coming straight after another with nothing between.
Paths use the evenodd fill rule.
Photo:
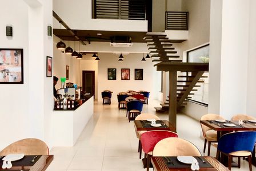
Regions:
<instances>
[{"instance_id":1,"label":"dark brown ceiling strip under the mezzanine, around the air conditioner","mask_svg":"<svg viewBox=\"0 0 256 171\"><path fill-rule=\"evenodd\" d=\"M130 36L133 43L146 43L143 40L147 32L138 31L99 31L99 30L72 30L82 41L88 42L110 42L111 36ZM102 35L97 35L101 33ZM66 29L53 29L53 34L62 40L77 40Z\"/></svg>"}]
</instances>

